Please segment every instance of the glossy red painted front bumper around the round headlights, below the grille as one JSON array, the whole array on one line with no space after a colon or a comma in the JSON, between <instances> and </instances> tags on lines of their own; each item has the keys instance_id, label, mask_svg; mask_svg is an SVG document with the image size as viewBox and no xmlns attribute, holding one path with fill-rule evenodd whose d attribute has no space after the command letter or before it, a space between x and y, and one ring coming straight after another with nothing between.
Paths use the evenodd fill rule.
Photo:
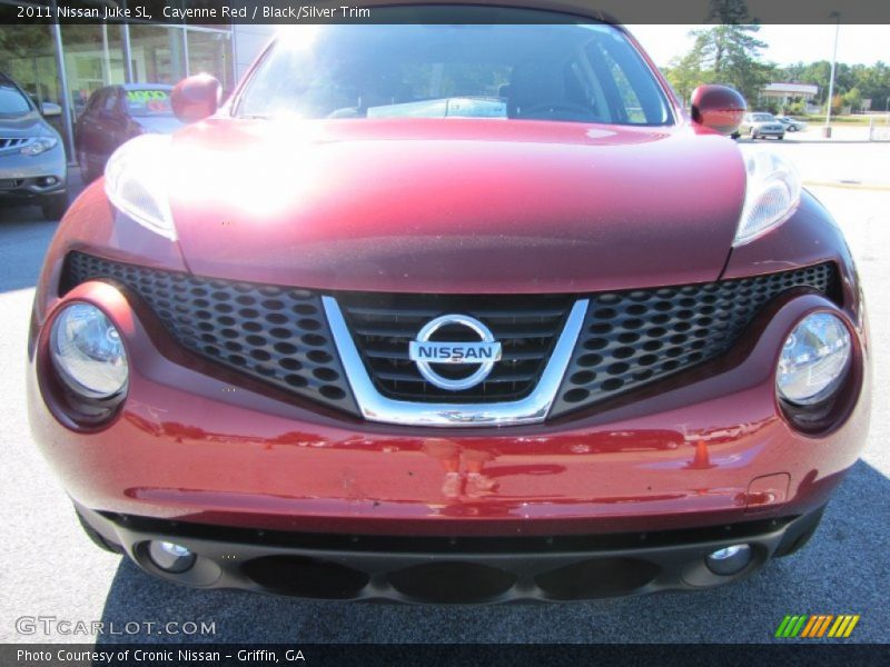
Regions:
<instances>
[{"instance_id":1,"label":"glossy red painted front bumper around the round headlights, below the grille","mask_svg":"<svg viewBox=\"0 0 890 667\"><path fill-rule=\"evenodd\" d=\"M607 406L459 432L364 422L248 381L186 355L107 283L83 283L51 310L70 300L100 306L120 330L128 397L107 426L67 424L44 386L43 327L32 347L31 425L73 499L121 515L454 537L719 526L822 506L868 428L859 346L837 428L803 435L778 405L782 341L813 309L837 309L813 293L765 307L723 358Z\"/></svg>"}]
</instances>

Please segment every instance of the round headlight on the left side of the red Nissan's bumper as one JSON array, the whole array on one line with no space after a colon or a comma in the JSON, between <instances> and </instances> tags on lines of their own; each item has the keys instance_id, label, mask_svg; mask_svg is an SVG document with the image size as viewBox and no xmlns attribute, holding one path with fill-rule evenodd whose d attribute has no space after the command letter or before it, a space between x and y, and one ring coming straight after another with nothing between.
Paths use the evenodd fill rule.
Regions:
<instances>
[{"instance_id":1,"label":"round headlight on the left side of the red Nissan's bumper","mask_svg":"<svg viewBox=\"0 0 890 667\"><path fill-rule=\"evenodd\" d=\"M50 351L62 382L83 398L111 398L127 386L129 370L120 334L95 306L75 303L58 315Z\"/></svg>"}]
</instances>

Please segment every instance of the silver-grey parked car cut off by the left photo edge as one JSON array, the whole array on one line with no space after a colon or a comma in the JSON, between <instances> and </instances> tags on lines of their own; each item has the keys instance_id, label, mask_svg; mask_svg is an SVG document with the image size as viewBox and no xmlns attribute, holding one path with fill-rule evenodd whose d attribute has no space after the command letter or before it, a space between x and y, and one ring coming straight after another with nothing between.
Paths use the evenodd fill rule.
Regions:
<instances>
[{"instance_id":1,"label":"silver-grey parked car cut off by the left photo edge","mask_svg":"<svg viewBox=\"0 0 890 667\"><path fill-rule=\"evenodd\" d=\"M68 162L59 133L33 100L0 72L0 202L36 203L49 220L68 208Z\"/></svg>"}]
</instances>

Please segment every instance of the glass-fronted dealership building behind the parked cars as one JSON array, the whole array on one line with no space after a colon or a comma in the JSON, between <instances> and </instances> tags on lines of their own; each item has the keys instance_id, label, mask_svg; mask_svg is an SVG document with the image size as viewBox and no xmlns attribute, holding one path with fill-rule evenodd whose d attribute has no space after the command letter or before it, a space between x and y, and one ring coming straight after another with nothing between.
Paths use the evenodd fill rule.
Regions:
<instances>
[{"instance_id":1,"label":"glass-fronted dealership building behind the parked cars","mask_svg":"<svg viewBox=\"0 0 890 667\"><path fill-rule=\"evenodd\" d=\"M38 10L51 4L0 0L0 12L14 17L19 7ZM93 91L113 83L176 83L198 72L214 74L224 90L231 90L273 31L271 26L149 21L4 24L0 72L38 102L61 108L50 120L72 157L73 123Z\"/></svg>"}]
</instances>

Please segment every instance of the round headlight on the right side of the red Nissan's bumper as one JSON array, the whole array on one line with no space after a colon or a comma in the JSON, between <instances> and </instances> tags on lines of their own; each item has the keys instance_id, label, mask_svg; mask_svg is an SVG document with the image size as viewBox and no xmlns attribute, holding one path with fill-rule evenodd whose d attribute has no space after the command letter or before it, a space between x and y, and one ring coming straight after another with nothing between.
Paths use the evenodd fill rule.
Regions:
<instances>
[{"instance_id":1,"label":"round headlight on the right side of the red Nissan's bumper","mask_svg":"<svg viewBox=\"0 0 890 667\"><path fill-rule=\"evenodd\" d=\"M803 318L785 339L779 359L779 396L810 406L831 396L850 366L850 332L830 312Z\"/></svg>"}]
</instances>

